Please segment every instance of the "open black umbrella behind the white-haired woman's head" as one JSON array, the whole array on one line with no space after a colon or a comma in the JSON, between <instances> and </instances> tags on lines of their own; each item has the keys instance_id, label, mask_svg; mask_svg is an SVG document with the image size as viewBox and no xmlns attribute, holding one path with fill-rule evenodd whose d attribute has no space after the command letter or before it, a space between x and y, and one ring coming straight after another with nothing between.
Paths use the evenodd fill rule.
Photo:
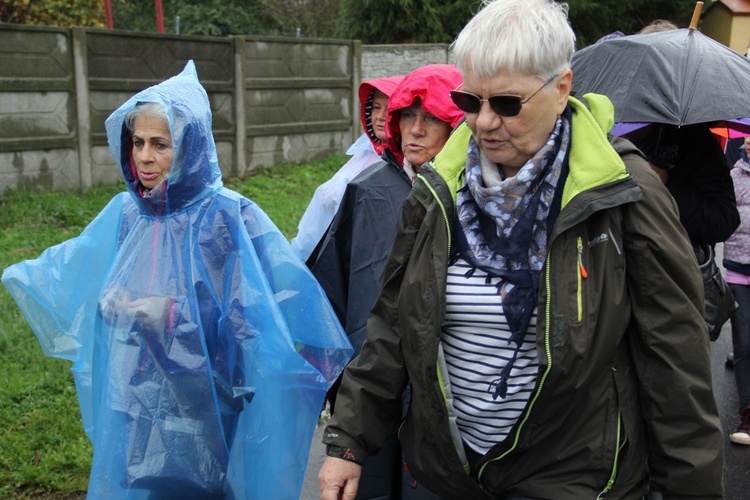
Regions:
<instances>
[{"instance_id":1,"label":"open black umbrella behind the white-haired woman's head","mask_svg":"<svg viewBox=\"0 0 750 500\"><path fill-rule=\"evenodd\" d=\"M616 122L750 117L750 61L694 29L631 35L573 55L573 90L608 96Z\"/></svg>"}]
</instances>

